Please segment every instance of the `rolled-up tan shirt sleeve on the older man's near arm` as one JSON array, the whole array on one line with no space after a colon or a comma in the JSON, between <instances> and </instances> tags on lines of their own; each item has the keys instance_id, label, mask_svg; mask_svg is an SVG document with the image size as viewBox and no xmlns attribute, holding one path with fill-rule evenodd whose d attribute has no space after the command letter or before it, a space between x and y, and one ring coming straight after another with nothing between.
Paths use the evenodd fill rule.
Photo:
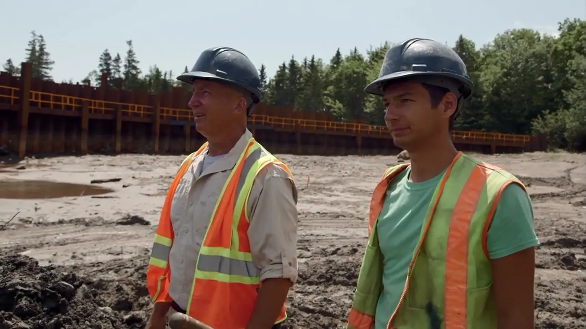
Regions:
<instances>
[{"instance_id":1,"label":"rolled-up tan shirt sleeve on the older man's near arm","mask_svg":"<svg viewBox=\"0 0 586 329\"><path fill-rule=\"evenodd\" d=\"M255 181L248 240L260 280L297 281L297 189L284 170L271 166ZM254 196L254 190L259 190Z\"/></svg>"}]
</instances>

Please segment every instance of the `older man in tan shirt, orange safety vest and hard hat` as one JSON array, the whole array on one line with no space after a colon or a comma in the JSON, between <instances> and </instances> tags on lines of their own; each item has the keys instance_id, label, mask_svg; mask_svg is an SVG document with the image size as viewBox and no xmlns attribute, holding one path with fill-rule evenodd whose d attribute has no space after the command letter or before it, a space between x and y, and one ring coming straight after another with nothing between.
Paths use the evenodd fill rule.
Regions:
<instances>
[{"instance_id":1,"label":"older man in tan shirt, orange safety vest and hard hat","mask_svg":"<svg viewBox=\"0 0 586 329\"><path fill-rule=\"evenodd\" d=\"M147 274L155 301L147 328L164 328L166 315L175 312L204 317L198 320L214 329L278 328L285 320L288 290L297 280L297 189L287 166L255 142L246 128L247 115L260 101L258 72L242 53L219 47L203 52L192 71L178 79L193 85L189 107L207 144L186 159L163 207ZM247 157L250 148L258 152ZM262 169L247 176L247 163ZM243 182L255 174L243 204L230 199L229 181L236 174L236 194L246 190ZM233 201L226 206L219 200ZM220 207L240 206L246 220L243 216L237 224L232 217L217 215ZM202 269L203 247L215 248L206 241L217 232L211 227L218 225L232 225L232 242L247 239L244 247L240 242L242 252L229 242L234 249L230 255L250 255L252 265L224 258L217 269ZM245 278L230 274L242 269ZM165 296L161 290L166 290Z\"/></svg>"}]
</instances>

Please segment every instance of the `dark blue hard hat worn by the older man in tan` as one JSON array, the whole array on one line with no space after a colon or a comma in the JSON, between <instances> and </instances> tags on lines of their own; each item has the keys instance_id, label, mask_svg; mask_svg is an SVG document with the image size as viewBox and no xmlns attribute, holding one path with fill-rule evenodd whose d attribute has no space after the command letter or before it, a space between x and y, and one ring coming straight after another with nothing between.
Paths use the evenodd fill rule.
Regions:
<instances>
[{"instance_id":1,"label":"dark blue hard hat worn by the older man in tan","mask_svg":"<svg viewBox=\"0 0 586 329\"><path fill-rule=\"evenodd\" d=\"M236 87L243 92L248 104L248 114L263 98L260 77L254 64L245 54L230 47L213 47L204 50L191 71L181 74L177 80L193 84L194 80L212 80Z\"/></svg>"}]
</instances>

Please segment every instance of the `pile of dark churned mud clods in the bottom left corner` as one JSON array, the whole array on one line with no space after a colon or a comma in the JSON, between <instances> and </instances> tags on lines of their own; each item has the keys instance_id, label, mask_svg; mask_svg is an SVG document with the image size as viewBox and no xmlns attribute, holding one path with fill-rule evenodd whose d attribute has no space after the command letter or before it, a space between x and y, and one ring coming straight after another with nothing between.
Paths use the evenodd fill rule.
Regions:
<instances>
[{"instance_id":1,"label":"pile of dark churned mud clods in the bottom left corner","mask_svg":"<svg viewBox=\"0 0 586 329\"><path fill-rule=\"evenodd\" d=\"M109 310L98 291L74 273L0 255L0 329L142 328L136 314Z\"/></svg>"}]
</instances>

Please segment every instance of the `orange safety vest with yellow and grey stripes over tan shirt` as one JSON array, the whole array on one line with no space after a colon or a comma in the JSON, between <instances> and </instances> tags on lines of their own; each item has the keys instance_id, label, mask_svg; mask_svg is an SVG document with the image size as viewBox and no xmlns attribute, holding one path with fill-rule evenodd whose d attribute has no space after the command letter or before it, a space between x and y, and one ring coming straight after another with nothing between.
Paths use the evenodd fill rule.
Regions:
<instances>
[{"instance_id":1,"label":"orange safety vest with yellow and grey stripes over tan shirt","mask_svg":"<svg viewBox=\"0 0 586 329\"><path fill-rule=\"evenodd\" d=\"M173 194L193 159L203 152L206 145L183 160L163 204L147 272L148 292L155 303L171 301L168 287L171 273L169 252L175 236L170 217ZM188 316L214 329L244 328L253 312L260 287L260 271L254 265L250 253L246 210L254 178L271 163L282 167L292 177L284 163L254 138L248 140L216 202L197 255L186 311ZM287 314L283 304L275 324L285 318Z\"/></svg>"}]
</instances>

